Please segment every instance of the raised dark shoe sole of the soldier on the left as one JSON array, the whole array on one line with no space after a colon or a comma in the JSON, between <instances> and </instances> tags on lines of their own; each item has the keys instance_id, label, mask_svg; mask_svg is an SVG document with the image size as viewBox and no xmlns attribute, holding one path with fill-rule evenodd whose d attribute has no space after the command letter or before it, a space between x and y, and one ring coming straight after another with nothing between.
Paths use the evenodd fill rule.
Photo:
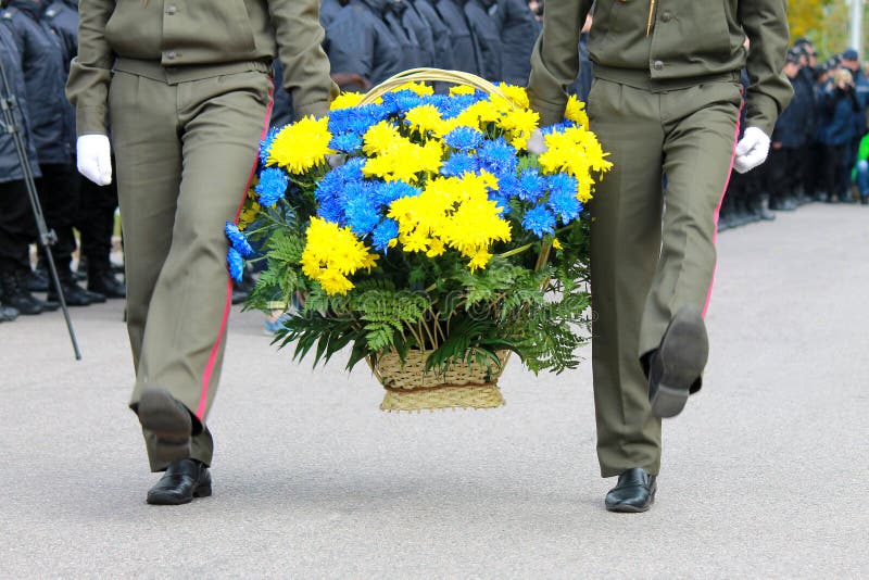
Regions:
<instances>
[{"instance_id":1,"label":"raised dark shoe sole of the soldier on the left","mask_svg":"<svg viewBox=\"0 0 869 580\"><path fill-rule=\"evenodd\" d=\"M190 456L190 413L163 389L147 389L139 399L139 423L156 438L158 462L172 463Z\"/></svg>"}]
</instances>

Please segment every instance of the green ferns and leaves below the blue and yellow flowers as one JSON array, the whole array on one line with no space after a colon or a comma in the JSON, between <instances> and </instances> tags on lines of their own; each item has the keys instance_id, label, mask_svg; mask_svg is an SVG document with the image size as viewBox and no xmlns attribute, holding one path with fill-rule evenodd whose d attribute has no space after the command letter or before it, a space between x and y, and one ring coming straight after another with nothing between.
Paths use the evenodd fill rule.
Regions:
<instances>
[{"instance_id":1,"label":"green ferns and leaves below the blue and yellow flowers","mask_svg":"<svg viewBox=\"0 0 869 580\"><path fill-rule=\"evenodd\" d=\"M274 341L293 345L294 360L313 354L316 366L350 348L353 368L366 357L396 351L404 358L423 349L431 351L427 369L440 374L457 362L494 373L501 351L516 353L534 373L577 366L577 349L588 342L590 328L585 214L557 231L558 250L550 248L551 237L530 237L476 270L457 256L393 252L378 276L361 277L347 295L329 295L301 272L303 229L288 220L292 212L286 205L281 200L263 212L270 215L266 226L260 224L268 231L267 268L247 307L268 312L304 297Z\"/></svg>"}]
</instances>

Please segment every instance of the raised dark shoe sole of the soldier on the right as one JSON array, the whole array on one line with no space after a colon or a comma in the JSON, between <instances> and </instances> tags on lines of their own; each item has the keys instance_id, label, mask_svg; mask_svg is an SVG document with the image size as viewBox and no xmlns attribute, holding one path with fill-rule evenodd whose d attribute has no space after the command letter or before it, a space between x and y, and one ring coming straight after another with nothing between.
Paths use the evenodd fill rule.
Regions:
<instances>
[{"instance_id":1,"label":"raised dark shoe sole of the soldier on the right","mask_svg":"<svg viewBox=\"0 0 869 580\"><path fill-rule=\"evenodd\" d=\"M688 402L691 384L703 374L709 357L709 339L703 314L695 306L683 306L673 316L652 364L650 377L659 377L650 402L657 417L675 417Z\"/></svg>"}]
</instances>

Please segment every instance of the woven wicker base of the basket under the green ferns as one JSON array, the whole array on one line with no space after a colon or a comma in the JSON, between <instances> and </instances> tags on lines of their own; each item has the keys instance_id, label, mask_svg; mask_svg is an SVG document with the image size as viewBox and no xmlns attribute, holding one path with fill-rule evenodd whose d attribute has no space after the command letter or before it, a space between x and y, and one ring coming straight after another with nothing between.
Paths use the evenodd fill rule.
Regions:
<instances>
[{"instance_id":1,"label":"woven wicker base of the basket under the green ferns","mask_svg":"<svg viewBox=\"0 0 869 580\"><path fill-rule=\"evenodd\" d=\"M456 363L445 374L425 373L429 352L413 351L404 364L395 352L368 360L386 389L381 411L493 408L504 404L498 379L507 363L508 351L498 352L501 368Z\"/></svg>"}]
</instances>

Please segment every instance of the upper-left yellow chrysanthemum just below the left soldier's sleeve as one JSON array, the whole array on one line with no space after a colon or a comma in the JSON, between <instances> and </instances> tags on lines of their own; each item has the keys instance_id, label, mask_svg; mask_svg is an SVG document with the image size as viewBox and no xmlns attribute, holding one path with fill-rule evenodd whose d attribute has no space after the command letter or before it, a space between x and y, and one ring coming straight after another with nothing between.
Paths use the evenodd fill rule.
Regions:
<instances>
[{"instance_id":1,"label":"upper-left yellow chrysanthemum just below the left soldier's sleeve","mask_svg":"<svg viewBox=\"0 0 869 580\"><path fill-rule=\"evenodd\" d=\"M287 125L275 137L266 165L285 167L289 173L301 175L311 167L326 162L332 134L327 117L306 116Z\"/></svg>"}]
</instances>

